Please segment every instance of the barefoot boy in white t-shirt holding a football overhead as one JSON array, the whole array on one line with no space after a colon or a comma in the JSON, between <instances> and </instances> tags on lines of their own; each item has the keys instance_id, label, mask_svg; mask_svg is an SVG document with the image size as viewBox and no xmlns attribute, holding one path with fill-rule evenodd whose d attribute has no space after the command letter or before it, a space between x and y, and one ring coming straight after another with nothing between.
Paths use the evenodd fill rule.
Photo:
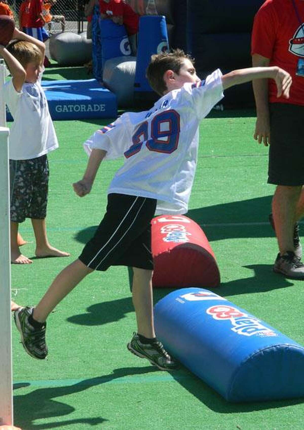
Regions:
<instances>
[{"instance_id":1,"label":"barefoot boy in white t-shirt holding a football overhead","mask_svg":"<svg viewBox=\"0 0 304 430\"><path fill-rule=\"evenodd\" d=\"M58 141L40 85L45 46L16 28L13 39L7 48L0 45L12 75L3 91L14 118L9 135L11 262L30 264L19 249L25 241L18 236L18 226L25 218L31 218L37 258L69 254L51 246L46 235L47 154L58 148Z\"/></svg>"}]
</instances>

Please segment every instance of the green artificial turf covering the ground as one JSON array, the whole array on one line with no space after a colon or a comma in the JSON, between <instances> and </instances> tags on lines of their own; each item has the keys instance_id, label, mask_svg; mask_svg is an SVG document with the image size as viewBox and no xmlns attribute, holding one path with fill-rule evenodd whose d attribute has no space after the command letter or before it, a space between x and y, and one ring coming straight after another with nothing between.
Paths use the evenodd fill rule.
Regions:
<instances>
[{"instance_id":1,"label":"green artificial turf covering the ground","mask_svg":"<svg viewBox=\"0 0 304 430\"><path fill-rule=\"evenodd\" d=\"M50 243L71 257L12 265L17 303L36 304L98 225L107 186L122 160L102 163L84 198L71 184L86 166L83 141L111 120L55 122L60 146L49 154L47 230ZM267 185L267 148L253 140L254 126L253 112L212 112L203 120L187 215L201 225L215 252L221 272L216 292L304 344L303 283L272 272L277 246L267 217L273 186ZM29 221L20 231L34 240ZM32 257L34 248L29 243L22 252ZM168 292L155 290L154 300ZM303 399L227 403L183 367L169 374L130 354L126 343L135 329L125 267L92 273L58 305L48 319L46 360L29 357L13 327L15 425L23 430L302 430Z\"/></svg>"}]
</instances>

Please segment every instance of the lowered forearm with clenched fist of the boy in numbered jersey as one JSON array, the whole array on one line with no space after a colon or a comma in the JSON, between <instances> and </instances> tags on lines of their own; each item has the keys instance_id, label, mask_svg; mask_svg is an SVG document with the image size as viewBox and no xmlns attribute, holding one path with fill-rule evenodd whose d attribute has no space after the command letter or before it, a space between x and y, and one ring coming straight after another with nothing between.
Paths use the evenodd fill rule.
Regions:
<instances>
[{"instance_id":1,"label":"lowered forearm with clenched fist of the boy in numbered jersey","mask_svg":"<svg viewBox=\"0 0 304 430\"><path fill-rule=\"evenodd\" d=\"M92 149L83 178L73 184L74 191L79 197L83 197L91 191L100 163L106 154L107 151L103 149Z\"/></svg>"}]
</instances>

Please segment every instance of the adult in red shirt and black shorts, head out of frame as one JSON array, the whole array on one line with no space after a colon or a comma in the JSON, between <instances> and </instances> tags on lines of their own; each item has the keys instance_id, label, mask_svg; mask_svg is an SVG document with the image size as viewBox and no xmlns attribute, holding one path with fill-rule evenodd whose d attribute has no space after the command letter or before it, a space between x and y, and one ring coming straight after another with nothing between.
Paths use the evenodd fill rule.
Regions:
<instances>
[{"instance_id":1,"label":"adult in red shirt and black shorts, head out of frame","mask_svg":"<svg viewBox=\"0 0 304 430\"><path fill-rule=\"evenodd\" d=\"M279 254L273 270L304 279L298 220L304 215L304 0L266 0L255 15L252 65L279 66L292 75L289 99L276 97L270 80L253 81L254 137L270 145L268 183L275 184L270 222Z\"/></svg>"}]
</instances>

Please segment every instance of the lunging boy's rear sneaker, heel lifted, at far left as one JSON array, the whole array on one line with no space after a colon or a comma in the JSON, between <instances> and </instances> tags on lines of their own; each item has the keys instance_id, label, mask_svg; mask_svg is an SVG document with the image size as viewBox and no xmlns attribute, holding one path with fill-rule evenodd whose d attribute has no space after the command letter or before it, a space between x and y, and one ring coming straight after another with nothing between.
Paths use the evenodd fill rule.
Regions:
<instances>
[{"instance_id":1,"label":"lunging boy's rear sneaker, heel lifted, at far left","mask_svg":"<svg viewBox=\"0 0 304 430\"><path fill-rule=\"evenodd\" d=\"M35 329L28 322L33 314L34 307L20 307L14 312L15 324L21 335L21 342L26 352L34 358L44 359L47 356L46 322L40 329Z\"/></svg>"}]
</instances>

